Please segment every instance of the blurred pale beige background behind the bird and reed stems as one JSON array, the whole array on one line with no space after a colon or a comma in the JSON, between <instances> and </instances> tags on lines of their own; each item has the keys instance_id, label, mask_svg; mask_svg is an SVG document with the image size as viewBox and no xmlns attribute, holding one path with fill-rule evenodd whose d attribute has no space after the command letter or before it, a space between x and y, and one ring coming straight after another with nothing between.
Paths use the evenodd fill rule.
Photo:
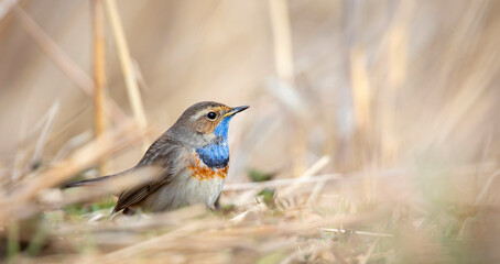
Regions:
<instances>
[{"instance_id":1,"label":"blurred pale beige background behind the bird and reed stems","mask_svg":"<svg viewBox=\"0 0 500 264\"><path fill-rule=\"evenodd\" d=\"M230 180L249 167L290 176L324 155L334 161L327 170L404 166L428 150L439 163L467 164L488 139L498 157L498 1L289 1L294 86L285 90L275 85L268 1L118 2L155 135L197 101L251 106L231 124ZM21 4L91 77L90 1ZM91 97L14 12L0 19L1 158L12 161L58 102L43 153L51 161L93 130ZM109 96L131 116L109 28L107 36ZM137 145L113 156L111 170L141 155Z\"/></svg>"}]
</instances>

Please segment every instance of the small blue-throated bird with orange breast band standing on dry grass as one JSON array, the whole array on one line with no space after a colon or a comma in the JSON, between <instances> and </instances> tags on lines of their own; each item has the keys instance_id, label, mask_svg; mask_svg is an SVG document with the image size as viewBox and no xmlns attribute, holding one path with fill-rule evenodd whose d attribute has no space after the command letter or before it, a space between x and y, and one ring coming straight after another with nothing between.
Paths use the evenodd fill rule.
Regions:
<instances>
[{"instance_id":1,"label":"small blue-throated bird with orange breast band standing on dry grass","mask_svg":"<svg viewBox=\"0 0 500 264\"><path fill-rule=\"evenodd\" d=\"M228 129L236 113L247 106L230 108L204 101L189 107L145 152L131 169L156 166L160 169L146 183L123 190L113 213L130 213L135 208L167 211L203 204L214 207L229 168ZM91 185L120 174L67 184Z\"/></svg>"}]
</instances>

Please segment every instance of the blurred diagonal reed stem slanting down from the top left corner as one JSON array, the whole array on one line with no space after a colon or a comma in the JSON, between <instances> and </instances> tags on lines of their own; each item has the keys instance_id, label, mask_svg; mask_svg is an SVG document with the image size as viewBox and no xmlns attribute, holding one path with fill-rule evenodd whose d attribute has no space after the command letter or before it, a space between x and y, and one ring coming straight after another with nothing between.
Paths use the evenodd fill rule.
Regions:
<instances>
[{"instance_id":1,"label":"blurred diagonal reed stem slanting down from the top left corner","mask_svg":"<svg viewBox=\"0 0 500 264\"><path fill-rule=\"evenodd\" d=\"M48 58L85 94L94 94L93 79L55 43L40 25L21 7L14 8L17 18L21 22L23 30L33 41L45 52ZM116 123L123 122L127 116L121 111L117 103L109 99L106 108L108 116Z\"/></svg>"}]
</instances>

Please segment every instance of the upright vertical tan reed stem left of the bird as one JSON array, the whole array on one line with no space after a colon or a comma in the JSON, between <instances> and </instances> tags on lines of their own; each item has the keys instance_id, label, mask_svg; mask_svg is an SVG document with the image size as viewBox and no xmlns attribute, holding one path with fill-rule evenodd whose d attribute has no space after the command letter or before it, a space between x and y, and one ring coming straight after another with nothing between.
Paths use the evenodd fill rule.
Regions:
<instances>
[{"instance_id":1,"label":"upright vertical tan reed stem left of the bird","mask_svg":"<svg viewBox=\"0 0 500 264\"><path fill-rule=\"evenodd\" d=\"M106 131L106 45L105 14L102 0L93 0L94 8L94 125L95 136L99 138ZM99 164L99 173L107 174L107 162Z\"/></svg>"}]
</instances>

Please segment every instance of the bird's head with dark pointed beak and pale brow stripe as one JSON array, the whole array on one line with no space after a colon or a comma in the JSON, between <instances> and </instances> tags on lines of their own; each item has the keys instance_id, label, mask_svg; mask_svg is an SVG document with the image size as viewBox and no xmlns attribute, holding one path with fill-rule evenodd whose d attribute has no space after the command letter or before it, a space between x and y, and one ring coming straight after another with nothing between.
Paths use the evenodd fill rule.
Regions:
<instances>
[{"instance_id":1,"label":"bird's head with dark pointed beak and pale brow stripe","mask_svg":"<svg viewBox=\"0 0 500 264\"><path fill-rule=\"evenodd\" d=\"M229 121L236 113L249 108L228 107L213 101L198 102L189 107L172 127L176 134L198 138L203 142L227 140ZM195 143L195 142L193 142Z\"/></svg>"}]
</instances>

